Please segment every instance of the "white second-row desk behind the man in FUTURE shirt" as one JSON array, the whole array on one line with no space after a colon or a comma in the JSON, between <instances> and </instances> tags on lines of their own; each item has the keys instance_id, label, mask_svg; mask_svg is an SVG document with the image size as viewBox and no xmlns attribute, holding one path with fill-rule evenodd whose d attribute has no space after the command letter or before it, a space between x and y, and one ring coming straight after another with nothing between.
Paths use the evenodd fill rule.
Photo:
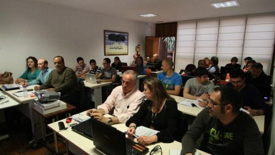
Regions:
<instances>
[{"instance_id":1,"label":"white second-row desk behind the man in FUTURE shirt","mask_svg":"<svg viewBox=\"0 0 275 155\"><path fill-rule=\"evenodd\" d=\"M175 96L175 95L170 95L173 97L178 103L183 101L185 98L180 97L180 96ZM191 106L185 106L182 104L178 104L178 110L182 111L183 113L191 116L196 116L198 115L199 112L202 110L197 108L197 107L191 107ZM263 134L264 132L264 115L260 116L252 116L252 118L256 121L256 124L260 130L260 133Z\"/></svg>"}]
</instances>

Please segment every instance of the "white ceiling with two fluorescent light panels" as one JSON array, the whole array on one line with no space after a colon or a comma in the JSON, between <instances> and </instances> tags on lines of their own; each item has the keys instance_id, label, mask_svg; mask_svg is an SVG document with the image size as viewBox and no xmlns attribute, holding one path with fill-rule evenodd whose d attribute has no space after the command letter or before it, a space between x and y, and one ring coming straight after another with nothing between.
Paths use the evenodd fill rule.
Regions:
<instances>
[{"instance_id":1,"label":"white ceiling with two fluorescent light panels","mask_svg":"<svg viewBox=\"0 0 275 155\"><path fill-rule=\"evenodd\" d=\"M161 23L275 12L275 0L237 0L240 6L213 8L210 3L223 0L29 0L63 7L75 8L107 16L135 21ZM226 0L225 0L226 1ZM159 16L144 18L142 13Z\"/></svg>"}]
</instances>

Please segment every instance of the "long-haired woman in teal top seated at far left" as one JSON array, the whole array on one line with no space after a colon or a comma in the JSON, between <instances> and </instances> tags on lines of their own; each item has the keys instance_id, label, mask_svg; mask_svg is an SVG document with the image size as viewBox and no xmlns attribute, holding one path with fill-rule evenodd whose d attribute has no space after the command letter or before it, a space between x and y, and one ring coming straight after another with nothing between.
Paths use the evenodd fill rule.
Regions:
<instances>
[{"instance_id":1,"label":"long-haired woman in teal top seated at far left","mask_svg":"<svg viewBox=\"0 0 275 155\"><path fill-rule=\"evenodd\" d=\"M27 59L27 70L15 80L15 83L30 82L37 78L40 70L37 68L37 59L29 56Z\"/></svg>"}]
</instances>

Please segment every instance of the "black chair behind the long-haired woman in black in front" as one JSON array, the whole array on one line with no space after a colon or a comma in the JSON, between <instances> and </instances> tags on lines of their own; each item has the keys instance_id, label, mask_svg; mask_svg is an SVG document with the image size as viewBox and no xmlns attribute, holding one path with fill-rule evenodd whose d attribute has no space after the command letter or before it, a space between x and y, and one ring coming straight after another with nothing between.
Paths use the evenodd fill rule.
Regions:
<instances>
[{"instance_id":1,"label":"black chair behind the long-haired woman in black in front","mask_svg":"<svg viewBox=\"0 0 275 155\"><path fill-rule=\"evenodd\" d=\"M175 137L175 140L177 142L182 142L182 138L188 130L188 123L187 123L185 114L183 112L178 110L178 116L180 119L178 121L178 126L177 126L178 134L177 134L177 137Z\"/></svg>"}]
</instances>

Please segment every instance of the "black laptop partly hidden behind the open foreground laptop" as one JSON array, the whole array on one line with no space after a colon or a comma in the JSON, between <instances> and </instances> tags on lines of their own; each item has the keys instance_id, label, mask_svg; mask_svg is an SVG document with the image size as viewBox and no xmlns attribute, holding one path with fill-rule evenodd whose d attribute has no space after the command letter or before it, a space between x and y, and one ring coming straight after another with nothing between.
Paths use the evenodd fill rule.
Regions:
<instances>
[{"instance_id":1,"label":"black laptop partly hidden behind the open foreground laptop","mask_svg":"<svg viewBox=\"0 0 275 155\"><path fill-rule=\"evenodd\" d=\"M73 126L72 129L74 132L93 140L91 119Z\"/></svg>"}]
</instances>

